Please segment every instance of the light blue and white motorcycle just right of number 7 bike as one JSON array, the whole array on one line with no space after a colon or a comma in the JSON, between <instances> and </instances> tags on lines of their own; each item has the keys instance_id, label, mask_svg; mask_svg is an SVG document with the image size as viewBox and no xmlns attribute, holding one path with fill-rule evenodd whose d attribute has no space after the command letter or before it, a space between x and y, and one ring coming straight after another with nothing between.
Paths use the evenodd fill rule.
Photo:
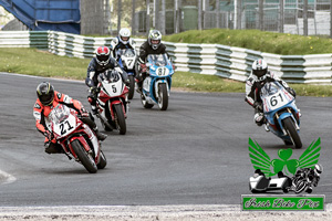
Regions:
<instances>
[{"instance_id":1,"label":"light blue and white motorcycle just right of number 7 bike","mask_svg":"<svg viewBox=\"0 0 332 221\"><path fill-rule=\"evenodd\" d=\"M160 110L166 110L174 74L173 65L166 54L149 54L146 65L147 76L143 81L141 102L145 108L157 104Z\"/></svg>"}]
</instances>

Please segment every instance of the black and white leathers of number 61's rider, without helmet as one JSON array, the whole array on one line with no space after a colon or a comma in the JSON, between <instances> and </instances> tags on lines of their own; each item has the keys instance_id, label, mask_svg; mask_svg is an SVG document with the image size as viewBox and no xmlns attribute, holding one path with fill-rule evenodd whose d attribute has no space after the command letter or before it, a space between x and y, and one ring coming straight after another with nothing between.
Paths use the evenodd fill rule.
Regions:
<instances>
[{"instance_id":1,"label":"black and white leathers of number 61's rider, without helmet","mask_svg":"<svg viewBox=\"0 0 332 221\"><path fill-rule=\"evenodd\" d=\"M260 78L255 74L250 74L246 82L246 98L245 101L255 108L255 122L258 126L261 126L266 123L262 112L262 101L260 98L260 90L267 82L279 82L293 97L295 97L295 92L288 86L288 84L280 80L277 75L270 71ZM266 128L268 130L268 128Z\"/></svg>"}]
</instances>

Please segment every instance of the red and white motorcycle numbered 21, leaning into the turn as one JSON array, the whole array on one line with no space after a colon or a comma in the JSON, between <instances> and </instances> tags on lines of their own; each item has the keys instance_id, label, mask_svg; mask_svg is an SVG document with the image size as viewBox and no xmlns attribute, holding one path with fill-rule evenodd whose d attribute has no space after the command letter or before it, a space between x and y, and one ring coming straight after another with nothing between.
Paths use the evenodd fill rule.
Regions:
<instances>
[{"instance_id":1,"label":"red and white motorcycle numbered 21, leaning into the turn","mask_svg":"<svg viewBox=\"0 0 332 221\"><path fill-rule=\"evenodd\" d=\"M94 131L85 125L74 109L59 104L49 115L54 138L66 156L81 162L91 172L106 167L106 157Z\"/></svg>"}]
</instances>

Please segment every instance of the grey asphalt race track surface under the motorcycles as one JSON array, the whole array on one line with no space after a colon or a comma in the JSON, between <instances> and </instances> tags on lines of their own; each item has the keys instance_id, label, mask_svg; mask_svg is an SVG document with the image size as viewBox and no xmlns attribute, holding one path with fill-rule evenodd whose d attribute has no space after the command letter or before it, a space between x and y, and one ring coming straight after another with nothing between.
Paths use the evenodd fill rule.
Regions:
<instances>
[{"instance_id":1,"label":"grey asphalt race track surface under the motorcycles","mask_svg":"<svg viewBox=\"0 0 332 221\"><path fill-rule=\"evenodd\" d=\"M253 168L251 137L271 159L287 148L252 122L243 94L172 92L169 107L144 109L135 94L127 134L107 133L107 166L87 173L64 155L48 155L32 115L35 87L56 91L89 109L83 82L0 73L0 207L239 204ZM332 201L331 97L298 97L303 148L321 137L324 167L313 193ZM97 123L101 126L100 123ZM293 149L298 159L304 149Z\"/></svg>"}]
</instances>

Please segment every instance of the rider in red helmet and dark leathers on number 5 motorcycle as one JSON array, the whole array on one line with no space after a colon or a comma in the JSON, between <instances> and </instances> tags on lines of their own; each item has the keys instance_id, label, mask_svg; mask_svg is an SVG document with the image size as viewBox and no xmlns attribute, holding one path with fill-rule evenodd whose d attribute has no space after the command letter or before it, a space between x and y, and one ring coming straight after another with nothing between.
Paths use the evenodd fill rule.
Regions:
<instances>
[{"instance_id":1,"label":"rider in red helmet and dark leathers on number 5 motorcycle","mask_svg":"<svg viewBox=\"0 0 332 221\"><path fill-rule=\"evenodd\" d=\"M107 46L100 46L87 66L87 75L85 78L85 84L90 87L90 95L87 96L91 104L92 114L96 115L96 98L97 98L97 83L98 75L106 70L116 70L121 73L123 82L126 86L129 85L128 75L123 71L118 63L111 56L111 50Z\"/></svg>"}]
</instances>

